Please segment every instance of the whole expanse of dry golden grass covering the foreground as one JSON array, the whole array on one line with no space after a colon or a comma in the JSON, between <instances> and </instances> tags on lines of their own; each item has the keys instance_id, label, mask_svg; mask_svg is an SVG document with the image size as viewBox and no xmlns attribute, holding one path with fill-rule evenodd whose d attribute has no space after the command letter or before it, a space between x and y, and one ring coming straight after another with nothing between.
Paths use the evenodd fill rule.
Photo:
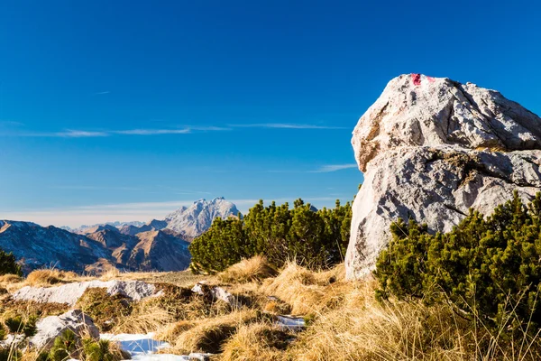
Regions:
<instances>
[{"instance_id":1,"label":"whole expanse of dry golden grass covering the foreground","mask_svg":"<svg viewBox=\"0 0 541 361\"><path fill-rule=\"evenodd\" d=\"M205 277L208 284L228 280L225 289L243 300L240 310L189 291L185 287L201 278L188 273L111 273L115 279L156 282L164 292L163 297L134 302L131 313L120 318L113 331L157 332L157 338L172 345L162 352L221 353L225 361L541 359L538 337L503 339L482 326L474 329L448 305L378 302L375 282L345 282L343 265L312 272L291 263L262 282L262 277L231 275L259 269L261 260L256 265L247 265L248 261L252 260L232 267L227 276ZM292 313L310 321L307 329L292 333L278 329L267 313Z\"/></svg>"}]
</instances>

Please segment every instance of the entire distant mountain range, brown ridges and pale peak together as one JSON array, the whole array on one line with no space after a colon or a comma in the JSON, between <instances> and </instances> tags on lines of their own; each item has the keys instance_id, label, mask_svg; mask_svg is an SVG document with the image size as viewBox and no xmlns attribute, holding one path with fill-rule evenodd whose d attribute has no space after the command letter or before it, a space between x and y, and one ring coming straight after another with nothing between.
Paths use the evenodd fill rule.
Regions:
<instances>
[{"instance_id":1,"label":"entire distant mountain range, brown ridges and pale peak together","mask_svg":"<svg viewBox=\"0 0 541 361\"><path fill-rule=\"evenodd\" d=\"M180 271L188 268L188 245L215 218L236 216L224 198L199 199L164 220L113 222L77 229L41 227L0 220L0 249L13 252L23 270L43 267L100 273L112 266L130 271Z\"/></svg>"}]
</instances>

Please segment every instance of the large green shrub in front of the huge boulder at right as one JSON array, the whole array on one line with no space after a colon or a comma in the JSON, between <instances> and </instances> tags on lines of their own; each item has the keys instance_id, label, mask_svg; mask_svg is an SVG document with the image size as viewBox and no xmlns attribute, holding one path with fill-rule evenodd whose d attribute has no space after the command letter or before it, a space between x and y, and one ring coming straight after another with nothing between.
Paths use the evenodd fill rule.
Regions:
<instances>
[{"instance_id":1,"label":"large green shrub in front of the huge boulder at right","mask_svg":"<svg viewBox=\"0 0 541 361\"><path fill-rule=\"evenodd\" d=\"M483 326L541 326L541 193L525 206L513 199L484 218L471 210L451 232L399 220L379 255L378 297L447 302Z\"/></svg>"}]
</instances>

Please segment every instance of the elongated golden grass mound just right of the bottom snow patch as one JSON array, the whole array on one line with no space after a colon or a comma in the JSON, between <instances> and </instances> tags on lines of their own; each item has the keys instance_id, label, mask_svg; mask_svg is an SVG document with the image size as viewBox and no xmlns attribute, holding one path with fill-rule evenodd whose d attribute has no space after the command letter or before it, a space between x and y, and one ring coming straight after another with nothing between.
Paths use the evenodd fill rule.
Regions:
<instances>
[{"instance_id":1,"label":"elongated golden grass mound just right of the bottom snow patch","mask_svg":"<svg viewBox=\"0 0 541 361\"><path fill-rule=\"evenodd\" d=\"M196 326L180 334L172 348L166 352L188 355L191 352L218 353L222 344L244 324L258 319L255 310L234 311L213 319L200 319Z\"/></svg>"}]
</instances>

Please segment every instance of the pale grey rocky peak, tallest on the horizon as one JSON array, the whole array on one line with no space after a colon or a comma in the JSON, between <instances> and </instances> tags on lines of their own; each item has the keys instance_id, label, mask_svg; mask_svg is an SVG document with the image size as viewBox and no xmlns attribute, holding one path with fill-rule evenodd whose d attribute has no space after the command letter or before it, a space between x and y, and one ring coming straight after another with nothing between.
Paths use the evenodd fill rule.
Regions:
<instances>
[{"instance_id":1,"label":"pale grey rocky peak, tallest on the horizon","mask_svg":"<svg viewBox=\"0 0 541 361\"><path fill-rule=\"evenodd\" d=\"M167 228L180 236L195 238L203 234L215 218L237 216L239 210L234 203L223 197L212 200L199 199L189 207L182 207L165 218Z\"/></svg>"}]
</instances>

